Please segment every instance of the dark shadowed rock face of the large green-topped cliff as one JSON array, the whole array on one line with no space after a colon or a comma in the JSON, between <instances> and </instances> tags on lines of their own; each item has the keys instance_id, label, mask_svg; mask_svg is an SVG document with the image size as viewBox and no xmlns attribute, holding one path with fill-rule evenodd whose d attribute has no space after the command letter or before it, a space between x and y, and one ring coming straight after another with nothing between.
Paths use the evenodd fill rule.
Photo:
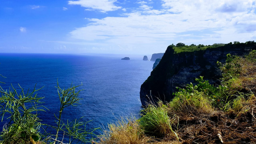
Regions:
<instances>
[{"instance_id":1,"label":"dark shadowed rock face of the large green-topped cliff","mask_svg":"<svg viewBox=\"0 0 256 144\"><path fill-rule=\"evenodd\" d=\"M220 83L221 72L216 62L225 62L228 53L242 56L251 49L256 49L256 45L239 43L194 52L174 53L173 47L168 46L162 60L141 85L142 105L159 100L170 101L172 93L177 91L176 87L184 88L190 82L194 84L195 78L199 76L204 76L211 84Z\"/></svg>"}]
</instances>

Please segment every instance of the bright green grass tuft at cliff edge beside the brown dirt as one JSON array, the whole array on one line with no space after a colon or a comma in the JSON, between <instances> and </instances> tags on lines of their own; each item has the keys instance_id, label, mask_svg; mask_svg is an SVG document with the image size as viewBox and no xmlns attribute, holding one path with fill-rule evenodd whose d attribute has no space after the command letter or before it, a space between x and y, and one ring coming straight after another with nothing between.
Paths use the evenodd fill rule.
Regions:
<instances>
[{"instance_id":1,"label":"bright green grass tuft at cliff edge beside the brown dirt","mask_svg":"<svg viewBox=\"0 0 256 144\"><path fill-rule=\"evenodd\" d=\"M172 130L172 121L170 121L165 105L159 107L150 105L142 112L145 115L139 119L139 122L145 134L156 137L163 137L168 134L177 136L176 132Z\"/></svg>"}]
</instances>

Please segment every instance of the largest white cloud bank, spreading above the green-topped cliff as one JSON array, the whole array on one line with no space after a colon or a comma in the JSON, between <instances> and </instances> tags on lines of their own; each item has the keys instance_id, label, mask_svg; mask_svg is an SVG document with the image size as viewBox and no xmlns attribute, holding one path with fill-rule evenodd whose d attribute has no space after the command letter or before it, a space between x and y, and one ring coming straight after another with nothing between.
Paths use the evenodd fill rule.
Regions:
<instances>
[{"instance_id":1,"label":"largest white cloud bank, spreading above the green-topped cliff","mask_svg":"<svg viewBox=\"0 0 256 144\"><path fill-rule=\"evenodd\" d=\"M141 7L123 17L87 19L90 22L70 32L70 36L88 43L133 48L142 44L148 44L148 48L161 44L166 47L166 43L178 42L245 42L256 37L254 1L162 0L161 9L153 9L142 2Z\"/></svg>"}]
</instances>

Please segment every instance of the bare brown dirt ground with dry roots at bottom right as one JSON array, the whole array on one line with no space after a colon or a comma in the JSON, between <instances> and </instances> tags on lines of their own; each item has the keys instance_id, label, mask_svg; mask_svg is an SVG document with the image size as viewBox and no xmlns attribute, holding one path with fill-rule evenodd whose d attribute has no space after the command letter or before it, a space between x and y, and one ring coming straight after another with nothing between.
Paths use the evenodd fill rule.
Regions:
<instances>
[{"instance_id":1,"label":"bare brown dirt ground with dry roots at bottom right","mask_svg":"<svg viewBox=\"0 0 256 144\"><path fill-rule=\"evenodd\" d=\"M179 121L177 131L182 144L256 144L256 101L239 116L232 112L214 111L208 116L190 115ZM170 137L174 140L175 137Z\"/></svg>"}]
</instances>

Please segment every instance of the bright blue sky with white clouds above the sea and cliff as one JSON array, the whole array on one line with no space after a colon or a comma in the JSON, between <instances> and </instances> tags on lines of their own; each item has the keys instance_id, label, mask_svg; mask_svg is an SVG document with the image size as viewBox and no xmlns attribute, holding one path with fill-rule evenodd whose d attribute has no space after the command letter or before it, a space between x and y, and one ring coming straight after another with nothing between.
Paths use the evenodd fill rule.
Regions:
<instances>
[{"instance_id":1,"label":"bright blue sky with white clouds above the sea and cliff","mask_svg":"<svg viewBox=\"0 0 256 144\"><path fill-rule=\"evenodd\" d=\"M256 0L0 0L0 53L164 53L256 40Z\"/></svg>"}]
</instances>

